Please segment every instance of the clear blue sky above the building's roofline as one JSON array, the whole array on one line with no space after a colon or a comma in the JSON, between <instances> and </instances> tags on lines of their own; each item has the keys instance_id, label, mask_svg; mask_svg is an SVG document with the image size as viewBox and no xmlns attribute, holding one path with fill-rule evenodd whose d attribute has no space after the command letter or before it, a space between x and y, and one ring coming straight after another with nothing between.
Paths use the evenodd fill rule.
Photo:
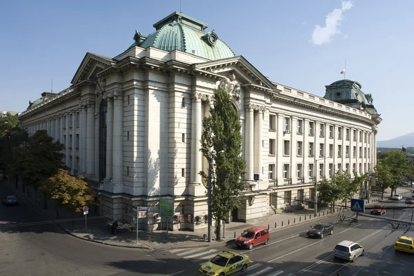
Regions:
<instances>
[{"instance_id":1,"label":"clear blue sky above the building's roofline","mask_svg":"<svg viewBox=\"0 0 414 276\"><path fill-rule=\"evenodd\" d=\"M54 92L67 88L86 52L115 57L179 2L4 1L0 110L26 110L51 79ZM378 140L414 132L414 1L182 0L182 12L272 81L315 95L343 78L346 59L346 78L362 83L382 114Z\"/></svg>"}]
</instances>

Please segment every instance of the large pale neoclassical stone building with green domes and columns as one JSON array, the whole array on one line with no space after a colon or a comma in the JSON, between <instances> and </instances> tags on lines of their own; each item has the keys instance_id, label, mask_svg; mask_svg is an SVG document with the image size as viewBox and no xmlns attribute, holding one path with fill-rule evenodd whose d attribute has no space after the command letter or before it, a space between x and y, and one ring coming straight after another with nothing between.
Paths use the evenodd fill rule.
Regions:
<instances>
[{"instance_id":1,"label":"large pale neoclassical stone building with green domes and columns","mask_svg":"<svg viewBox=\"0 0 414 276\"><path fill-rule=\"evenodd\" d=\"M19 118L30 135L46 129L65 148L72 175L96 184L99 212L141 228L159 222L159 198L173 197L170 228L206 227L200 170L201 121L224 86L239 112L246 187L232 219L248 221L313 199L335 170L372 172L380 115L356 81L335 81L318 97L270 81L202 23L174 12L117 57L87 53L72 85L44 92ZM369 185L366 186L366 189Z\"/></svg>"}]
</instances>

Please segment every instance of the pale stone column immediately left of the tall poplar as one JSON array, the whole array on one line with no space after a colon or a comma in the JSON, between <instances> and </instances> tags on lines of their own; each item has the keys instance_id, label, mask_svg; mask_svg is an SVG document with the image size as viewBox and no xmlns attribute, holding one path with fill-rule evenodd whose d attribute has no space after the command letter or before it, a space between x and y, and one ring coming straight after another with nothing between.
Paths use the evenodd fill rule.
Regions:
<instances>
[{"instance_id":1,"label":"pale stone column immediately left of the tall poplar","mask_svg":"<svg viewBox=\"0 0 414 276\"><path fill-rule=\"evenodd\" d=\"M193 92L193 102L191 103L191 168L190 183L201 184L201 93Z\"/></svg>"}]
</instances>

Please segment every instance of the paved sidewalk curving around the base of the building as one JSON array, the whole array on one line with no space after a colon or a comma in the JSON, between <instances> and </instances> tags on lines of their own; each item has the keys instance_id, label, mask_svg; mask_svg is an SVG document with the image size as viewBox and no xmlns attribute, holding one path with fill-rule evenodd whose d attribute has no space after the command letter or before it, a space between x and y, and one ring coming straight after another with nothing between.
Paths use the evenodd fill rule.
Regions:
<instances>
[{"instance_id":1,"label":"paved sidewalk curving around the base of the building","mask_svg":"<svg viewBox=\"0 0 414 276\"><path fill-rule=\"evenodd\" d=\"M225 243L231 242L235 237L240 235L243 230L251 226L267 226L270 232L275 232L279 229L304 223L307 221L317 221L324 217L335 217L339 207L342 206L338 203L335 207L335 213L331 213L329 208L319 208L317 216L314 215L313 209L297 210L290 213L282 213L276 215L270 215L268 217L262 217L259 219L252 219L248 223L244 222L230 222L226 224L226 235L223 237L222 242L208 243L202 240L202 236L207 234L207 229L198 229L195 231L187 230L174 230L167 233L166 230L155 230L152 233L148 233L144 230L139 231L139 239L137 243L136 231L129 232L128 230L117 230L116 235L111 235L110 230L106 229L105 223L108 221L105 217L100 217L95 213L95 208L90 208L87 217L87 225L85 224L85 216L81 213L75 214L75 226L76 230L72 230L72 221L70 221L71 214L66 212L63 208L58 208L59 218L57 218L57 204L52 199L47 199L48 208L43 209L43 194L38 192L38 200L35 201L34 190L31 187L26 186L26 193L22 193L22 184L19 184L19 188L14 188L14 184L8 183L8 186L14 190L18 195L24 198L24 200L30 202L35 208L41 211L48 219L54 221L60 226L66 233L77 237L79 239L85 239L90 242L97 242L100 244L106 244L110 246L121 246L128 248L146 248L152 250L170 249L170 248L193 248L202 246L223 246ZM28 197L27 191L30 190L31 197ZM387 191L391 193L391 190ZM398 188L397 193L411 193L411 189ZM387 194L388 196L388 194ZM375 204L381 198L380 194L373 195L369 204ZM386 195L384 194L384 200ZM366 201L368 204L368 201ZM348 201L347 206L349 207ZM349 208L347 208L349 210ZM87 228L87 229L86 229ZM222 235L223 236L223 235Z\"/></svg>"}]
</instances>

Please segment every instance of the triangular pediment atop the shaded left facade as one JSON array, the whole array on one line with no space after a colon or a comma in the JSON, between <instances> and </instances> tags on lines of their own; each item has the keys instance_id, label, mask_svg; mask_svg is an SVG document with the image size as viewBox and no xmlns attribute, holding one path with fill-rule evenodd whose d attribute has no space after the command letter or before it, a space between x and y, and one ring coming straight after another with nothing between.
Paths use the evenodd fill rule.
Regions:
<instances>
[{"instance_id":1,"label":"triangular pediment atop the shaded left facade","mask_svg":"<svg viewBox=\"0 0 414 276\"><path fill-rule=\"evenodd\" d=\"M83 57L81 65L70 83L72 83L72 85L76 85L81 81L95 81L95 77L98 72L112 66L115 62L116 61L110 57L88 52L85 57Z\"/></svg>"}]
</instances>

